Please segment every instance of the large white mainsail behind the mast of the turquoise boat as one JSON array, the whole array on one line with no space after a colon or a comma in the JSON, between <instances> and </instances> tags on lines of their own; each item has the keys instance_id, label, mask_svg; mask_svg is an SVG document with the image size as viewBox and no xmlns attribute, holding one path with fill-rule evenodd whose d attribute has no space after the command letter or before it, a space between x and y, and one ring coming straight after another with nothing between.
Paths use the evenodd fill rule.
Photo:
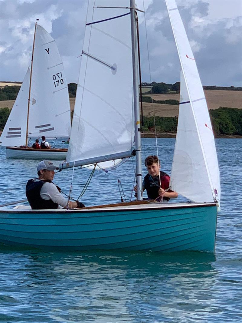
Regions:
<instances>
[{"instance_id":1,"label":"large white mainsail behind the mast of the turquoise boat","mask_svg":"<svg viewBox=\"0 0 242 323\"><path fill-rule=\"evenodd\" d=\"M112 0L88 3L68 164L63 167L104 161L108 155L125 157L134 140L130 9L97 6L118 5ZM122 7L129 7L129 1L122 1Z\"/></svg>"}]
</instances>

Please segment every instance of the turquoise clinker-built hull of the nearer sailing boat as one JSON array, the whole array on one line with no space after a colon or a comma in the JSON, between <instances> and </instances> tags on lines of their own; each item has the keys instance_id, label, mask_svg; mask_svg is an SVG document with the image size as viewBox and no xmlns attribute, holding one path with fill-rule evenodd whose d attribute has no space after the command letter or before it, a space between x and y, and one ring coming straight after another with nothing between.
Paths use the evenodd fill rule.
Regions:
<instances>
[{"instance_id":1,"label":"turquoise clinker-built hull of the nearer sailing boat","mask_svg":"<svg viewBox=\"0 0 242 323\"><path fill-rule=\"evenodd\" d=\"M128 204L128 205L127 205ZM216 203L0 210L0 241L45 249L214 252Z\"/></svg>"}]
</instances>

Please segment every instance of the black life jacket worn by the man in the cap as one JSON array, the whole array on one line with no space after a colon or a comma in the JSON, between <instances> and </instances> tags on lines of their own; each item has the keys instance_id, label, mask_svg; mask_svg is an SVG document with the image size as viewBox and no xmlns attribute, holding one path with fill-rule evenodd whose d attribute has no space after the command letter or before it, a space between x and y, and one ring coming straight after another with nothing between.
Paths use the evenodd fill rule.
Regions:
<instances>
[{"instance_id":1,"label":"black life jacket worn by the man in the cap","mask_svg":"<svg viewBox=\"0 0 242 323\"><path fill-rule=\"evenodd\" d=\"M25 193L32 209L57 209L58 203L52 200L44 200L40 196L40 190L45 182L52 183L48 180L35 181L36 178L28 180Z\"/></svg>"}]
</instances>

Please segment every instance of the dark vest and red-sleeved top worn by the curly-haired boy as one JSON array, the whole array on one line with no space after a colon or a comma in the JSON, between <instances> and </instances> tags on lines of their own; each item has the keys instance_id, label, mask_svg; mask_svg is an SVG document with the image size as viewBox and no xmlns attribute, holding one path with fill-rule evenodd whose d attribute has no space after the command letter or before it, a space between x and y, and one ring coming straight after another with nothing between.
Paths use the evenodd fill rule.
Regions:
<instances>
[{"instance_id":1,"label":"dark vest and red-sleeved top worn by the curly-haired boy","mask_svg":"<svg viewBox=\"0 0 242 323\"><path fill-rule=\"evenodd\" d=\"M152 200L156 200L158 198L158 196L159 196L158 191L159 191L160 186L164 190L166 190L168 188L168 187L166 187L164 185L164 180L165 180L166 176L169 177L169 175L167 175L166 173L160 171L161 185L160 185L160 181L159 181L159 176L156 176L155 178L153 178L150 174L147 174L144 177L144 184L145 184L145 189L147 191L148 198L150 198ZM170 177L169 177L169 179L170 179ZM169 198L164 196L163 200L169 201Z\"/></svg>"}]
</instances>

